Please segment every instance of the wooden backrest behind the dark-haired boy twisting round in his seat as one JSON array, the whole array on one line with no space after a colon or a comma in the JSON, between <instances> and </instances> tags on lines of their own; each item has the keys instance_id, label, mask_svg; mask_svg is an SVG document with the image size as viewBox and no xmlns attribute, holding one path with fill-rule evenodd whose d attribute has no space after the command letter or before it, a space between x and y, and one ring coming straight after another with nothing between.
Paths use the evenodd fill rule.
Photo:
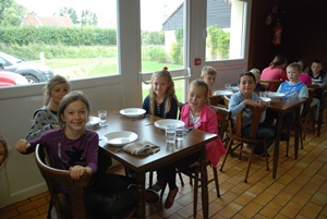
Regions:
<instances>
[{"instance_id":1,"label":"wooden backrest behind the dark-haired boy twisting round in his seat","mask_svg":"<svg viewBox=\"0 0 327 219\"><path fill-rule=\"evenodd\" d=\"M251 123L251 126L250 126L249 138L255 139L257 129L258 129L258 125L261 123L262 113L265 110L265 108L253 107L253 106L247 106L246 108L251 109L251 111L252 111L252 123ZM237 114L235 126L234 126L233 133L237 136L243 137L243 133L242 133L242 111L239 114Z\"/></svg>"}]
</instances>

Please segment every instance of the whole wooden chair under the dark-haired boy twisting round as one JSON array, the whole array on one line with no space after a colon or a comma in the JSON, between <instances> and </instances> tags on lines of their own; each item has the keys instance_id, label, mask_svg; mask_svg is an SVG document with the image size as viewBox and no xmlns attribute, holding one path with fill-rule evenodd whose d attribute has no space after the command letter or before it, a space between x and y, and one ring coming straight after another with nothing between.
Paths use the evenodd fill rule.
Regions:
<instances>
[{"instance_id":1,"label":"whole wooden chair under the dark-haired boy twisting round","mask_svg":"<svg viewBox=\"0 0 327 219\"><path fill-rule=\"evenodd\" d=\"M258 125L259 125L261 115L262 115L262 112L264 111L264 108L258 108L258 107L255 108L255 107L252 107L252 106L249 106L247 108L250 108L252 110L252 112L253 112L250 136L244 136L242 134L242 112L240 112L237 115L234 127L232 127L231 119L229 120L229 130L227 132L227 135L229 137L229 142L228 142L228 146L227 146L227 154L226 154L226 156L223 158L223 161L222 161L221 168L220 168L220 171L222 172L226 159L228 157L228 154L231 153L231 150L232 150L232 145L233 145L234 141L240 142L240 143L246 143L246 144L249 144L250 147L251 147L251 153L250 153L249 165L247 165L246 174L245 174L245 179L244 179L245 183L247 182L247 177L249 177L249 172L250 172L252 157L253 157L253 153L254 153L255 146L257 144L259 144L259 143L264 143L264 153L265 153L265 159L266 159L266 165L267 165L267 171L269 170L266 139L258 139L256 137L256 133L257 133L257 129L258 129ZM241 150L240 150L240 157L239 157L239 159L241 159L242 146L243 146L243 144L241 144Z\"/></svg>"}]
</instances>

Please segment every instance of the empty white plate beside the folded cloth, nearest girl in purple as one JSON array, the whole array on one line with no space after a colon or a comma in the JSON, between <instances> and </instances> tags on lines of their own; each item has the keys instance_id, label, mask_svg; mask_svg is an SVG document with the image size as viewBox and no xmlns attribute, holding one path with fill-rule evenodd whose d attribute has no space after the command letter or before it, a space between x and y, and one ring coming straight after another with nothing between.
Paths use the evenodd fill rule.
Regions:
<instances>
[{"instance_id":1,"label":"empty white plate beside the folded cloth, nearest girl in purple","mask_svg":"<svg viewBox=\"0 0 327 219\"><path fill-rule=\"evenodd\" d=\"M137 139L137 134L129 131L110 132L102 137L102 141L112 146L122 146Z\"/></svg>"}]
</instances>

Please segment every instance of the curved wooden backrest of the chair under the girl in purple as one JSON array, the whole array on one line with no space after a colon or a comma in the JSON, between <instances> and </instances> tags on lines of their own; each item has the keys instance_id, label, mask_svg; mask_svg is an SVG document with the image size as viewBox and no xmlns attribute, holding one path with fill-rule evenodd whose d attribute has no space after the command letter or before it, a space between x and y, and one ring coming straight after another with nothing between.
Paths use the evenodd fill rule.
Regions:
<instances>
[{"instance_id":1,"label":"curved wooden backrest of the chair under the girl in purple","mask_svg":"<svg viewBox=\"0 0 327 219\"><path fill-rule=\"evenodd\" d=\"M40 145L36 147L35 160L37 167L40 170L41 175L46 180L49 193L51 195L51 202L55 205L58 218L64 218L64 214L60 205L60 197L58 196L61 193L58 191L59 185L64 186L65 192L70 196L70 218L86 218L86 210L83 196L84 187L87 186L89 181L89 175L83 174L80 180L73 180L70 175L70 171L49 167L48 165L46 165L46 160L49 160L47 159L47 150Z\"/></svg>"}]
</instances>

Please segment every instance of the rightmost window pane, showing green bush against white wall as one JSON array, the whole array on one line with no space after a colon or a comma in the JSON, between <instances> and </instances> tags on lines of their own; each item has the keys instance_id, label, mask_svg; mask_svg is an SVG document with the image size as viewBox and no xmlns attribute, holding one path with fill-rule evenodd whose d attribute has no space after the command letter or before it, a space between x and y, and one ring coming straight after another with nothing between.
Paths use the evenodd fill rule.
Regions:
<instances>
[{"instance_id":1,"label":"rightmost window pane, showing green bush against white wall","mask_svg":"<svg viewBox=\"0 0 327 219\"><path fill-rule=\"evenodd\" d=\"M240 0L207 2L206 61L244 57L244 9L245 2Z\"/></svg>"}]
</instances>

